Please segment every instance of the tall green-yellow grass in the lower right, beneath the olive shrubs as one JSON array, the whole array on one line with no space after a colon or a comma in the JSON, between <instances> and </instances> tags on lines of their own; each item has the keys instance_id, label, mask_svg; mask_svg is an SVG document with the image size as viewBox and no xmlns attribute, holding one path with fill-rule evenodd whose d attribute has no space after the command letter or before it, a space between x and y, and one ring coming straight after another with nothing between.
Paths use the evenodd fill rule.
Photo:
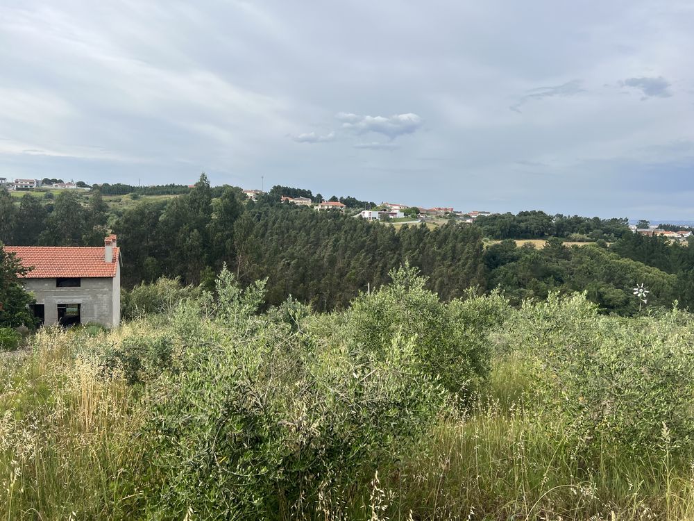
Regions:
<instances>
[{"instance_id":1,"label":"tall green-yellow grass in the lower right, beneath the olive shrubs","mask_svg":"<svg viewBox=\"0 0 694 521\"><path fill-rule=\"evenodd\" d=\"M496 367L491 395L514 395L518 366ZM532 411L522 399L484 397L469 415L438 424L382 483L395 493L389 519L410 511L423 520L694 519L694 466L672 458L667 433L659 454L602 447L586 462L570 447L565 424Z\"/></svg>"}]
</instances>

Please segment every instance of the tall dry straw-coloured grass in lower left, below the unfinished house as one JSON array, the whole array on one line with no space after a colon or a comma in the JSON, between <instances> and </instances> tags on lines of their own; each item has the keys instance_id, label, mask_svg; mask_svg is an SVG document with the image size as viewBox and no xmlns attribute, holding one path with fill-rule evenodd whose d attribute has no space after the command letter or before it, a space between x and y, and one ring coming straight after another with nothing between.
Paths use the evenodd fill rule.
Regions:
<instances>
[{"instance_id":1,"label":"tall dry straw-coloured grass in lower left, below the unfinished house","mask_svg":"<svg viewBox=\"0 0 694 521\"><path fill-rule=\"evenodd\" d=\"M74 350L94 338L46 329L0 363L0 519L128 518L139 502L133 391Z\"/></svg>"}]
</instances>

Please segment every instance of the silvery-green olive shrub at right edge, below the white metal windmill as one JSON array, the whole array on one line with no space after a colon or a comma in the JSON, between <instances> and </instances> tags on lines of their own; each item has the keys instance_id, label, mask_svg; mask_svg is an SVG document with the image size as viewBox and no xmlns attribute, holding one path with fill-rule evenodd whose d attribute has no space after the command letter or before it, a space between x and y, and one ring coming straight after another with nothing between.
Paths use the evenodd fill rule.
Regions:
<instances>
[{"instance_id":1,"label":"silvery-green olive shrub at right edge, below the white metal windmill","mask_svg":"<svg viewBox=\"0 0 694 521\"><path fill-rule=\"evenodd\" d=\"M584 295L525 304L511 337L530 359L544 413L559 415L579 451L694 455L694 320L604 316Z\"/></svg>"}]
</instances>

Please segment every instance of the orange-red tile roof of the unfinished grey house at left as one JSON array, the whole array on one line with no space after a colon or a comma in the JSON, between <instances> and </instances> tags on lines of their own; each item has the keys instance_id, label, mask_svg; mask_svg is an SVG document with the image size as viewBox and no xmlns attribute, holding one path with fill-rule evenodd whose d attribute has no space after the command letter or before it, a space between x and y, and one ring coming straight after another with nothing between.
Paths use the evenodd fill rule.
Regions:
<instances>
[{"instance_id":1,"label":"orange-red tile roof of the unfinished grey house at left","mask_svg":"<svg viewBox=\"0 0 694 521\"><path fill-rule=\"evenodd\" d=\"M103 247L65 246L5 246L5 251L17 254L24 267L33 266L26 279L55 279L57 277L116 276L120 249L113 249L113 262L103 260Z\"/></svg>"}]
</instances>

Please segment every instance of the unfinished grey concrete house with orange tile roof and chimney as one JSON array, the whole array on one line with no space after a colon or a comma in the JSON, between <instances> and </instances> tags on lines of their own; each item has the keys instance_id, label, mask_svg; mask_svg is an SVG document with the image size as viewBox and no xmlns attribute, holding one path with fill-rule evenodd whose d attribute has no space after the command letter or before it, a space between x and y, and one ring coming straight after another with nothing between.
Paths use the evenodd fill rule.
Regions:
<instances>
[{"instance_id":1,"label":"unfinished grey concrete house with orange tile roof and chimney","mask_svg":"<svg viewBox=\"0 0 694 521\"><path fill-rule=\"evenodd\" d=\"M43 324L121 322L121 256L116 236L103 247L5 246L24 267L22 279L36 298L34 315Z\"/></svg>"}]
</instances>

